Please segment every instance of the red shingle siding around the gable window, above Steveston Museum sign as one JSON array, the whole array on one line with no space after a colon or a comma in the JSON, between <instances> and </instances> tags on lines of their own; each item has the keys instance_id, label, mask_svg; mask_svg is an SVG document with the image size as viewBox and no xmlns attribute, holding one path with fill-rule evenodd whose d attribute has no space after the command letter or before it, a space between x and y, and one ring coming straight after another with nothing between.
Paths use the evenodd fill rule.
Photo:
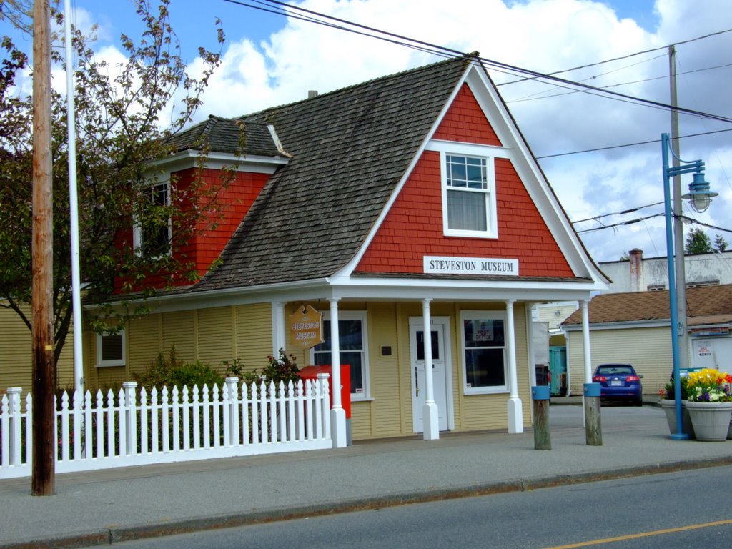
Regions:
<instances>
[{"instance_id":1,"label":"red shingle siding around the gable window, above Steveston Museum sign","mask_svg":"<svg viewBox=\"0 0 732 549\"><path fill-rule=\"evenodd\" d=\"M440 156L422 154L356 272L422 273L425 255L515 258L525 277L572 277L572 269L512 163L496 159L498 239L444 236Z\"/></svg>"}]
</instances>

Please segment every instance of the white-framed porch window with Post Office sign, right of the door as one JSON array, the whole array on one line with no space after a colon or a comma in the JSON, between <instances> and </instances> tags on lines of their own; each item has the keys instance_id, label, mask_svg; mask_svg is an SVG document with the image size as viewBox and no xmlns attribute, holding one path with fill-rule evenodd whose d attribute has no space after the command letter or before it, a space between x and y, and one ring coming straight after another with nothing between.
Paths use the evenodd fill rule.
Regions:
<instances>
[{"instance_id":1,"label":"white-framed porch window with Post Office sign, right of the door","mask_svg":"<svg viewBox=\"0 0 732 549\"><path fill-rule=\"evenodd\" d=\"M463 392L484 395L507 392L506 313L492 310L460 312Z\"/></svg>"}]
</instances>

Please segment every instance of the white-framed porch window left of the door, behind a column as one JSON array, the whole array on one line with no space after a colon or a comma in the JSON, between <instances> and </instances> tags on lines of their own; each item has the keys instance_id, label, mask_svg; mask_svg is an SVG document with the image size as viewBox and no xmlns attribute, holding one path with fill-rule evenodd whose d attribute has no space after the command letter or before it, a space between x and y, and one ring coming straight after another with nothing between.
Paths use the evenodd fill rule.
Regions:
<instances>
[{"instance_id":1,"label":"white-framed porch window left of the door, behind a column","mask_svg":"<svg viewBox=\"0 0 732 549\"><path fill-rule=\"evenodd\" d=\"M338 335L340 363L351 366L351 400L365 400L369 398L366 311L338 311ZM323 339L311 353L316 366L331 363L330 313L323 313Z\"/></svg>"}]
</instances>

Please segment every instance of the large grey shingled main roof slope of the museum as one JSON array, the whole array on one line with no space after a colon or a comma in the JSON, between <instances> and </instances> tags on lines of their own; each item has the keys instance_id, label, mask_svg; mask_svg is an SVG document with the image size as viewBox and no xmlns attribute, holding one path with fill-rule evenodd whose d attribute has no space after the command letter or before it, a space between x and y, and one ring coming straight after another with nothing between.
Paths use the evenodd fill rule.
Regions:
<instances>
[{"instance_id":1,"label":"large grey shingled main roof slope of the museum","mask_svg":"<svg viewBox=\"0 0 732 549\"><path fill-rule=\"evenodd\" d=\"M441 61L228 122L243 122L247 137L272 124L291 160L261 191L222 265L191 290L312 280L345 266L473 60Z\"/></svg>"}]
</instances>

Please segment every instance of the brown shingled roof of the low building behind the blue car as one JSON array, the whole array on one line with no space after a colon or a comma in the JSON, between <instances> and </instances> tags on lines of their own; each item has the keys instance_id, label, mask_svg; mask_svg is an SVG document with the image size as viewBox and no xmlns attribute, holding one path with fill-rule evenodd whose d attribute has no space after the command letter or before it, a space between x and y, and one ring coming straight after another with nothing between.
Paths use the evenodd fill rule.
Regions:
<instances>
[{"instance_id":1,"label":"brown shingled roof of the low building behind the blue car","mask_svg":"<svg viewBox=\"0 0 732 549\"><path fill-rule=\"evenodd\" d=\"M590 324L639 321L668 321L668 290L600 294L588 305ZM690 326L732 321L732 285L687 288L687 313ZM582 311L576 310L562 326L582 324Z\"/></svg>"}]
</instances>

